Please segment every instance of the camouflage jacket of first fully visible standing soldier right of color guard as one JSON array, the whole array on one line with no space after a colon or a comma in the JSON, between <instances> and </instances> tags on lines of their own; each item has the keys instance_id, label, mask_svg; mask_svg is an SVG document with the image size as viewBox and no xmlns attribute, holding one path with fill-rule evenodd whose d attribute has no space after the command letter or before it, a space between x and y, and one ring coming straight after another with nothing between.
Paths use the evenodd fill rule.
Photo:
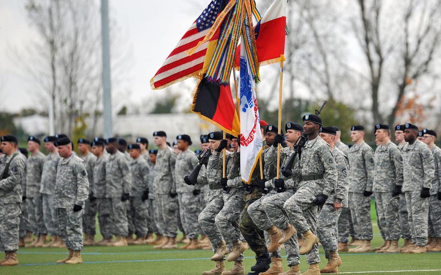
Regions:
<instances>
[{"instance_id":1,"label":"camouflage jacket of first fully visible standing soldier right of color guard","mask_svg":"<svg viewBox=\"0 0 441 275\"><path fill-rule=\"evenodd\" d=\"M372 191L374 181L374 150L366 142L349 149L349 192Z\"/></svg>"}]
</instances>

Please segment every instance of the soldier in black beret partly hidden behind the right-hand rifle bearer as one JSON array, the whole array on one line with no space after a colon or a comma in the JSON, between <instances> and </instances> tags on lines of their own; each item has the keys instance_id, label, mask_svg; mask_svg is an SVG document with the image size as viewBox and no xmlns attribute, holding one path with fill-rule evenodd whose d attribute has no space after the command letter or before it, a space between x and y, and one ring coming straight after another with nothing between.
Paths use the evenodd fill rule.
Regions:
<instances>
[{"instance_id":1,"label":"soldier in black beret partly hidden behind the right-hand rifle bearer","mask_svg":"<svg viewBox=\"0 0 441 275\"><path fill-rule=\"evenodd\" d=\"M325 250L325 257L328 259L328 264L320 270L320 273L338 273L338 266L342 264L338 255L337 222L342 208L347 207L349 158L334 145L336 135L337 132L333 127L322 127L320 130L320 138L329 144L338 170L335 191L332 191L318 214L317 237Z\"/></svg>"}]
</instances>

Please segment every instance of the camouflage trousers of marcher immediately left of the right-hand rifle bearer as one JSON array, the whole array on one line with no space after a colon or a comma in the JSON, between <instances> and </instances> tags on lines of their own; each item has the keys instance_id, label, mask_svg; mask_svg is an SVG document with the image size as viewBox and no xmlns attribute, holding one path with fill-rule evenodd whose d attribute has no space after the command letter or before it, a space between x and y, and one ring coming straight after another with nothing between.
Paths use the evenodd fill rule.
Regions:
<instances>
[{"instance_id":1,"label":"camouflage trousers of marcher immediately left of the right-hand rifle bearer","mask_svg":"<svg viewBox=\"0 0 441 275\"><path fill-rule=\"evenodd\" d=\"M294 195L294 190L288 189L283 193L276 193L275 195L265 198L262 201L262 206L271 224L279 229L286 229L288 226L288 217L284 212L284 204L287 199L292 197L292 195ZM292 238L285 243L285 253L287 256L286 263L288 266L293 266L300 263L299 241L297 239L297 234L294 234L294 236L292 236ZM313 257L307 256L306 260L308 263L314 263L311 261L314 260Z\"/></svg>"}]
</instances>

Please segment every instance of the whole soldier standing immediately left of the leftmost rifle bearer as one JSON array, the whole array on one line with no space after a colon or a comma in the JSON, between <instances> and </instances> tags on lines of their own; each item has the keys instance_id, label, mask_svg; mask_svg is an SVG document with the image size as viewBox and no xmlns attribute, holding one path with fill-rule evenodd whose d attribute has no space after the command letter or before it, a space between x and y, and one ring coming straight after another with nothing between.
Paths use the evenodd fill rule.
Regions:
<instances>
[{"instance_id":1,"label":"whole soldier standing immediately left of the leftmost rifle bearer","mask_svg":"<svg viewBox=\"0 0 441 275\"><path fill-rule=\"evenodd\" d=\"M198 216L200 213L199 196L201 191L198 185L191 186L184 182L184 177L189 175L193 168L198 163L196 153L189 150L192 144L191 138L188 135L179 135L176 137L177 148L181 151L176 157L176 164L174 168L176 180L176 193L178 194L179 214L181 217L182 227L189 238L189 243L181 247L181 249L197 249L199 223ZM205 168L199 173L205 173Z\"/></svg>"}]
</instances>

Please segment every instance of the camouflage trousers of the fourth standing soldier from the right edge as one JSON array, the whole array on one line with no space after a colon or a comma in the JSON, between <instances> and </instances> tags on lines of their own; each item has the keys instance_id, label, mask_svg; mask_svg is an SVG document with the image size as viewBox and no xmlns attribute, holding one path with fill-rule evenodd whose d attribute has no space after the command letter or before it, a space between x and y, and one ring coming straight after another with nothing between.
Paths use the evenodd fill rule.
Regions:
<instances>
[{"instance_id":1,"label":"camouflage trousers of the fourth standing soldier from the right edge","mask_svg":"<svg viewBox=\"0 0 441 275\"><path fill-rule=\"evenodd\" d=\"M400 198L392 197L392 193L376 193L377 221L384 232L384 240L398 240L401 236L398 209Z\"/></svg>"}]
</instances>

